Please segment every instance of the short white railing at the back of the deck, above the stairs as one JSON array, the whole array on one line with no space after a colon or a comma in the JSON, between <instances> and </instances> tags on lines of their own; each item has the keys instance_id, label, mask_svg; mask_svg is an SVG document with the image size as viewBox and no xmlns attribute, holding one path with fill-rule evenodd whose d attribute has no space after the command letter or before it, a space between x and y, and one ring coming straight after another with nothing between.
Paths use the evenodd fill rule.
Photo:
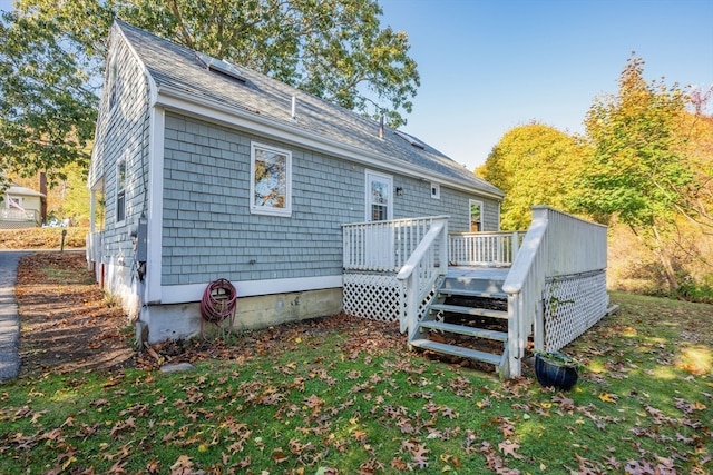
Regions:
<instances>
[{"instance_id":1,"label":"short white railing at the back of the deck, above the stairs","mask_svg":"<svg viewBox=\"0 0 713 475\"><path fill-rule=\"evenodd\" d=\"M525 232L452 232L448 261L452 266L509 266Z\"/></svg>"}]
</instances>

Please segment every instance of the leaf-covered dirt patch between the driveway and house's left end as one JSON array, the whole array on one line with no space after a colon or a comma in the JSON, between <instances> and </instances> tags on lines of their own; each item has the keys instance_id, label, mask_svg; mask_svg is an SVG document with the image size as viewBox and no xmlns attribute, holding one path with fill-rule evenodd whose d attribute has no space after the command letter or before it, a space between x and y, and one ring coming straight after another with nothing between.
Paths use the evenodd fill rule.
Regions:
<instances>
[{"instance_id":1,"label":"leaf-covered dirt patch between the driveway and house's left end","mask_svg":"<svg viewBox=\"0 0 713 475\"><path fill-rule=\"evenodd\" d=\"M25 256L16 296L21 374L134 364L133 327L94 283L84 253Z\"/></svg>"}]
</instances>

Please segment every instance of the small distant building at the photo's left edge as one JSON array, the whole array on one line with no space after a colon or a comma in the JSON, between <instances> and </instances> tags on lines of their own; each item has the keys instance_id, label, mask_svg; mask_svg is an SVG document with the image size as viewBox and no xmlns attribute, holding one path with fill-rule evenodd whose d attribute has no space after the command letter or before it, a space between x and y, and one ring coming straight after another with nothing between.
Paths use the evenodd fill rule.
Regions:
<instances>
[{"instance_id":1,"label":"small distant building at the photo's left edge","mask_svg":"<svg viewBox=\"0 0 713 475\"><path fill-rule=\"evenodd\" d=\"M33 228L41 226L46 209L46 195L19 185L11 185L0 200L0 229Z\"/></svg>"}]
</instances>

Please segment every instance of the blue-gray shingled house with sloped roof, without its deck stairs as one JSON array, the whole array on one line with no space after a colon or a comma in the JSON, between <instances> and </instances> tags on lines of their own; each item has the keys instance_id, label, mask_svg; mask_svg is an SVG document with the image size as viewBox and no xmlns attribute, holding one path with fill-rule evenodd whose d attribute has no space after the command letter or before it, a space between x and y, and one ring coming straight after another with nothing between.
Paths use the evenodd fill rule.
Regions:
<instances>
[{"instance_id":1,"label":"blue-gray shingled house with sloped roof, without its deck stairs","mask_svg":"<svg viewBox=\"0 0 713 475\"><path fill-rule=\"evenodd\" d=\"M98 117L88 259L148 342L195 335L216 279L238 328L326 316L359 239L383 269L440 222L397 235L403 220L499 230L502 192L419 138L121 21ZM373 222L389 227L346 237Z\"/></svg>"}]
</instances>

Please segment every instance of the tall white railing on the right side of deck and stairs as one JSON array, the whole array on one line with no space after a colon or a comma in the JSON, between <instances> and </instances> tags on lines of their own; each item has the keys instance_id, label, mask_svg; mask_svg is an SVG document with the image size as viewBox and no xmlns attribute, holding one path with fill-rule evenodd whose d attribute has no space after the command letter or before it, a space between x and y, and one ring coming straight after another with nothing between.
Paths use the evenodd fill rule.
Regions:
<instances>
[{"instance_id":1,"label":"tall white railing on the right side of deck and stairs","mask_svg":"<svg viewBox=\"0 0 713 475\"><path fill-rule=\"evenodd\" d=\"M530 328L544 349L543 295L547 279L606 269L606 226L549 207L533 208L533 224L502 286L508 294L509 376L520 376ZM604 289L606 291L606 289Z\"/></svg>"}]
</instances>

